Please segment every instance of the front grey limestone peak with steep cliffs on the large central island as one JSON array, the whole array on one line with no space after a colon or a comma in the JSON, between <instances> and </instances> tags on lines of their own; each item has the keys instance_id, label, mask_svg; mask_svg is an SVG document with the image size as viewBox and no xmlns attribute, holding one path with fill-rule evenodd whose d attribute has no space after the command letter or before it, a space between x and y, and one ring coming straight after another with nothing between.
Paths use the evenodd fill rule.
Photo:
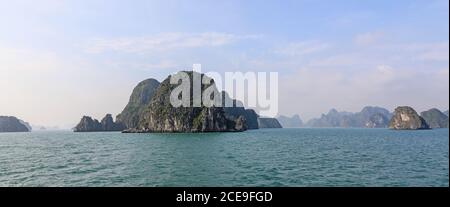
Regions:
<instances>
[{"instance_id":1,"label":"front grey limestone peak with steep cliffs on the large central island","mask_svg":"<svg viewBox=\"0 0 450 207\"><path fill-rule=\"evenodd\" d=\"M193 72L186 73L191 77L192 90ZM177 86L170 84L170 76L166 78L140 115L138 126L127 132L225 132L247 129L244 116L229 119L223 107L173 107L170 94ZM210 86L202 85L202 91ZM190 95L192 103L193 93Z\"/></svg>"}]
</instances>

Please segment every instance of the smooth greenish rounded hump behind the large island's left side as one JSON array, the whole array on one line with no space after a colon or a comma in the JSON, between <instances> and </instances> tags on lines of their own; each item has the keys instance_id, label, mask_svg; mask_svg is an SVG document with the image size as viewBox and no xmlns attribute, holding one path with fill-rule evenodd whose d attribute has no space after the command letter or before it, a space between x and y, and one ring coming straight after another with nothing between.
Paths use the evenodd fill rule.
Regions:
<instances>
[{"instance_id":1,"label":"smooth greenish rounded hump behind the large island's left side","mask_svg":"<svg viewBox=\"0 0 450 207\"><path fill-rule=\"evenodd\" d=\"M130 96L127 106L123 109L122 113L117 115L117 122L122 123L125 128L136 128L139 123L140 115L150 103L159 84L160 83L155 79L147 79L140 82L133 89L133 93Z\"/></svg>"}]
</instances>

